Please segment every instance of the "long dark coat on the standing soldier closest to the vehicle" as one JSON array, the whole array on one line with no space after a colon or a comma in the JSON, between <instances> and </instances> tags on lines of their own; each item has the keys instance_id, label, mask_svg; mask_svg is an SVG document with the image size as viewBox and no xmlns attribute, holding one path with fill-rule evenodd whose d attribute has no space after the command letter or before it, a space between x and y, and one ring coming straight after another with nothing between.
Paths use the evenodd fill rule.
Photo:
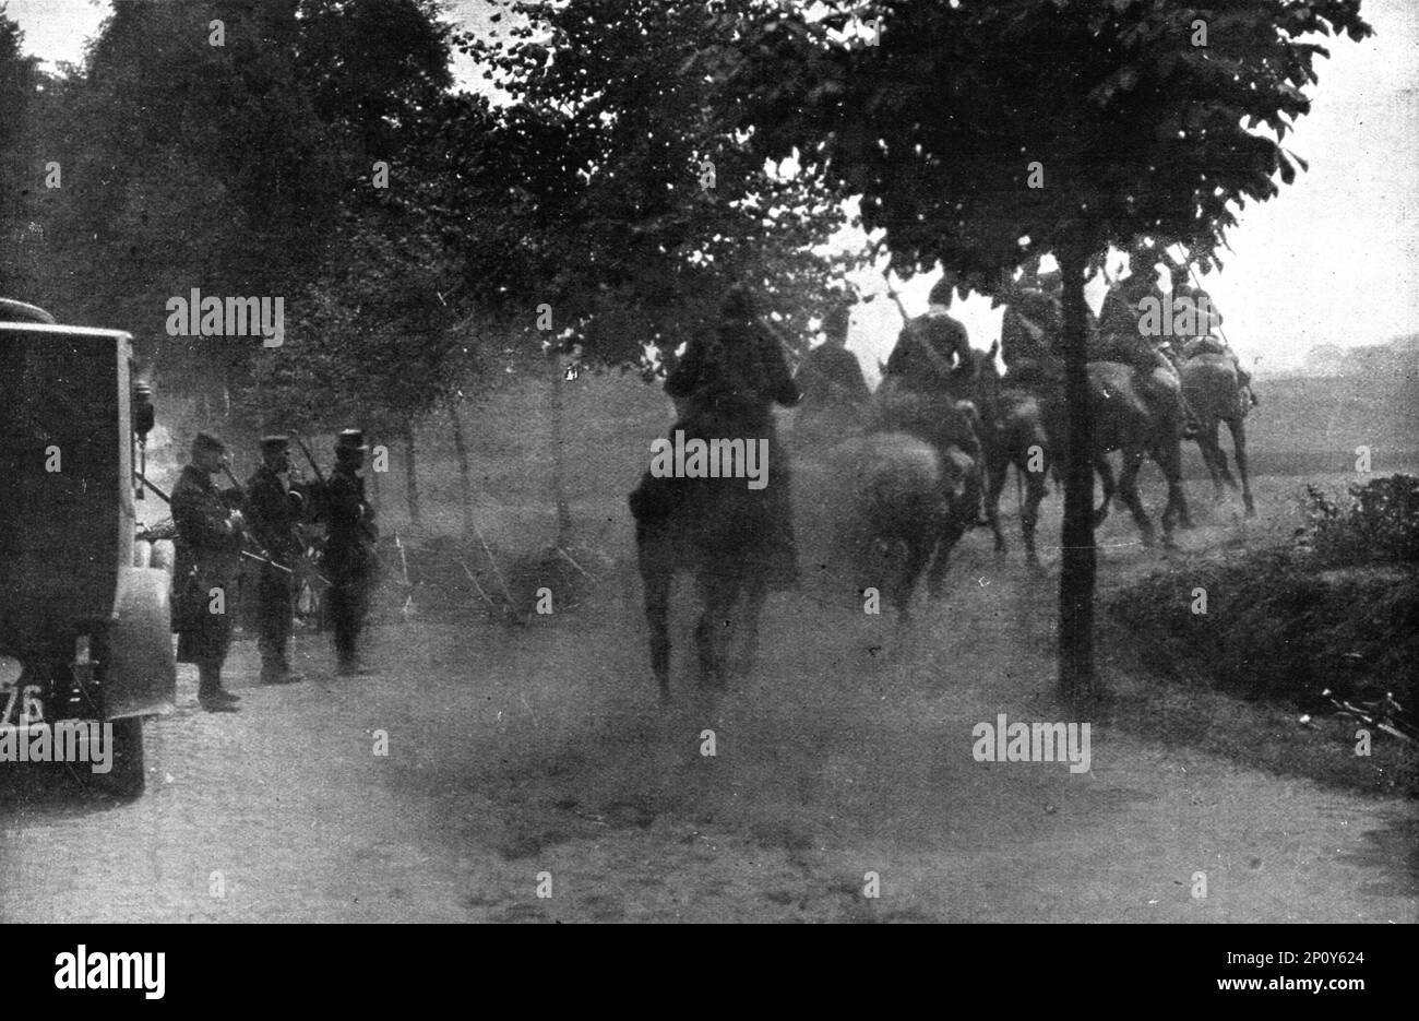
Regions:
<instances>
[{"instance_id":1,"label":"long dark coat on the standing soldier closest to the vehicle","mask_svg":"<svg viewBox=\"0 0 1419 1021\"><path fill-rule=\"evenodd\" d=\"M173 567L173 630L182 663L216 662L231 645L236 578L241 564L241 533L231 508L206 471L189 464L172 497L177 525ZM214 589L221 591L217 601ZM220 609L221 612L214 612Z\"/></svg>"}]
</instances>

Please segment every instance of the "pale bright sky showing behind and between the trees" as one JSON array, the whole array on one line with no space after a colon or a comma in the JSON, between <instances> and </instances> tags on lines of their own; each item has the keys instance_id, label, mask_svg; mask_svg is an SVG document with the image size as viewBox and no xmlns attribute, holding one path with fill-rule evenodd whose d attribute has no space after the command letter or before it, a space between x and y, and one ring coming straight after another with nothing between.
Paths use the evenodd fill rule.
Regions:
<instances>
[{"instance_id":1,"label":"pale bright sky showing behind and between the trees","mask_svg":"<svg viewBox=\"0 0 1419 1021\"><path fill-rule=\"evenodd\" d=\"M109 11L108 0L4 6L26 33L26 50L51 70L79 62ZM448 0L446 9L467 28L487 28L484 0ZM1310 172L1277 199L1242 210L1233 251L1222 253L1226 268L1203 278L1229 342L1256 372L1297 368L1317 344L1348 348L1419 332L1419 1L1364 0L1362 14L1375 36L1323 40L1331 58L1317 62L1311 112L1287 136ZM481 84L465 58L454 70L460 82ZM925 311L934 281L922 275L900 287L908 312ZM1097 308L1103 294L1090 297ZM1000 311L988 301L958 302L956 315L976 346L999 337ZM887 298L858 307L849 348L870 375L900 325Z\"/></svg>"}]
</instances>

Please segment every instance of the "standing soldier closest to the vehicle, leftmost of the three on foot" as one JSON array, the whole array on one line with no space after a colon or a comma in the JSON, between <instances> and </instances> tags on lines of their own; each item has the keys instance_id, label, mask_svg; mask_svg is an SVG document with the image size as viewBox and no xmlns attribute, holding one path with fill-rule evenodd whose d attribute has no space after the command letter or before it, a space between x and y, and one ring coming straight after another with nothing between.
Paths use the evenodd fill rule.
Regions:
<instances>
[{"instance_id":1,"label":"standing soldier closest to the vehicle, leftmost of the three on foot","mask_svg":"<svg viewBox=\"0 0 1419 1021\"><path fill-rule=\"evenodd\" d=\"M221 665L231 645L236 577L241 558L241 511L211 476L226 464L227 449L217 437L197 433L192 462L173 487L172 511L177 527L173 569L173 616L177 660L197 665L197 701L209 713L233 713L240 696L221 687Z\"/></svg>"}]
</instances>

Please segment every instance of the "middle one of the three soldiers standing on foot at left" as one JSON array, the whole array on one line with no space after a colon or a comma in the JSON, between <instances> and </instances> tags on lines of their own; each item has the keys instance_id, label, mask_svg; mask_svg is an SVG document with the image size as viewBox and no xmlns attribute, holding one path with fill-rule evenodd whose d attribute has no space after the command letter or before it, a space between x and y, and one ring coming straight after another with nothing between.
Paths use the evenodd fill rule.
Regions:
<instances>
[{"instance_id":1,"label":"middle one of the three soldiers standing on foot at left","mask_svg":"<svg viewBox=\"0 0 1419 1021\"><path fill-rule=\"evenodd\" d=\"M257 582L257 648L261 650L263 684L301 680L299 675L291 673L288 649L291 616L295 611L295 565L301 557L301 540L295 528L301 523L305 501L291 487L289 447L288 436L263 437L261 467L247 480L247 523L272 561L261 564Z\"/></svg>"}]
</instances>

